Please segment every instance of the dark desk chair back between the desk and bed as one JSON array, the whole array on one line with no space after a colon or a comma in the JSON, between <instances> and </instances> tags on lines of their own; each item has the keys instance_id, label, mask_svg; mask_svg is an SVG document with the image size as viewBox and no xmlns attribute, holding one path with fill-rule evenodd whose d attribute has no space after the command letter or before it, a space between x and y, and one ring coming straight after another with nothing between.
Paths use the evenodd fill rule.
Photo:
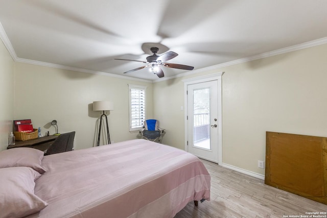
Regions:
<instances>
[{"instance_id":1,"label":"dark desk chair back between the desk and bed","mask_svg":"<svg viewBox=\"0 0 327 218\"><path fill-rule=\"evenodd\" d=\"M73 150L75 132L62 133L51 144L45 155L57 154Z\"/></svg>"}]
</instances>

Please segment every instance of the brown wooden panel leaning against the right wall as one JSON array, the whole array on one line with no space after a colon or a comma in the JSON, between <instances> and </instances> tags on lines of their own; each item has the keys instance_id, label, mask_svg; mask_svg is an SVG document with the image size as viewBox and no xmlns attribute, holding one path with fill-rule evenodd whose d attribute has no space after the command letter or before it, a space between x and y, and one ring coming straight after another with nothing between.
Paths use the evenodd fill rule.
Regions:
<instances>
[{"instance_id":1,"label":"brown wooden panel leaning against the right wall","mask_svg":"<svg viewBox=\"0 0 327 218\"><path fill-rule=\"evenodd\" d=\"M265 184L327 204L327 138L266 132Z\"/></svg>"}]
</instances>

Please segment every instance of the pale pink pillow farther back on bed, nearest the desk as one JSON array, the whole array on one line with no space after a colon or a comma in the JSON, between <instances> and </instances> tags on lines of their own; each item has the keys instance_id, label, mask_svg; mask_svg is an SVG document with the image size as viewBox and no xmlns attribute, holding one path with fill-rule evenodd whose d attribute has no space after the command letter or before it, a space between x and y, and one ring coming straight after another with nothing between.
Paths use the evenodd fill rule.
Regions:
<instances>
[{"instance_id":1,"label":"pale pink pillow farther back on bed, nearest the desk","mask_svg":"<svg viewBox=\"0 0 327 218\"><path fill-rule=\"evenodd\" d=\"M44 153L32 148L14 148L0 152L0 168L14 166L32 167L40 174L46 170L42 167Z\"/></svg>"}]
</instances>

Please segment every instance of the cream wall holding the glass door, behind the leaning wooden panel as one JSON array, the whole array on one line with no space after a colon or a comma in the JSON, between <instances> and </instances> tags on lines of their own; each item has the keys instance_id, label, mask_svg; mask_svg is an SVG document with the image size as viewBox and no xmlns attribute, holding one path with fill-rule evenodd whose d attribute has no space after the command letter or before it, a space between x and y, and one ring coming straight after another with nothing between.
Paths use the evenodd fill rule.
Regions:
<instances>
[{"instance_id":1,"label":"cream wall holding the glass door, behind the leaning wooden panel","mask_svg":"<svg viewBox=\"0 0 327 218\"><path fill-rule=\"evenodd\" d=\"M181 80L222 76L223 163L264 175L266 131L327 136L327 44L154 84L164 143L184 147ZM167 104L168 103L168 104Z\"/></svg>"}]
</instances>

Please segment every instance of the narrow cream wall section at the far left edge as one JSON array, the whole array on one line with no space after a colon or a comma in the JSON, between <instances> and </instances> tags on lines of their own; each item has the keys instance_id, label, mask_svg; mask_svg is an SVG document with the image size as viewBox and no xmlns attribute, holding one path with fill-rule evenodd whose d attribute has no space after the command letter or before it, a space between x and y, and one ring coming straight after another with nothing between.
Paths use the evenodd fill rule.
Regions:
<instances>
[{"instance_id":1,"label":"narrow cream wall section at the far left edge","mask_svg":"<svg viewBox=\"0 0 327 218\"><path fill-rule=\"evenodd\" d=\"M7 149L14 117L14 61L0 40L0 151Z\"/></svg>"}]
</instances>

